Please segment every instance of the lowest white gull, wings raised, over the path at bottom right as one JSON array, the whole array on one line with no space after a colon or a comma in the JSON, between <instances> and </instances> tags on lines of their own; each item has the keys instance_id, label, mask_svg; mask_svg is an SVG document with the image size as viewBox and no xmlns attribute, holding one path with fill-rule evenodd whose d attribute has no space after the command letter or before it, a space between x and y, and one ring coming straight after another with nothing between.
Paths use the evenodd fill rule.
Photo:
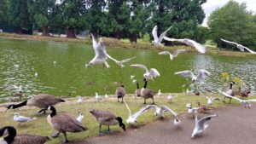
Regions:
<instances>
[{"instance_id":1,"label":"lowest white gull, wings raised, over the path at bottom right","mask_svg":"<svg viewBox=\"0 0 256 144\"><path fill-rule=\"evenodd\" d=\"M211 120L213 117L218 117L217 114L212 114L206 117L203 117L201 119L197 118L197 114L195 115L195 129L193 130L193 133L191 135L191 138L193 139L196 135L200 135L203 131L207 130L208 124L207 121Z\"/></svg>"}]
</instances>

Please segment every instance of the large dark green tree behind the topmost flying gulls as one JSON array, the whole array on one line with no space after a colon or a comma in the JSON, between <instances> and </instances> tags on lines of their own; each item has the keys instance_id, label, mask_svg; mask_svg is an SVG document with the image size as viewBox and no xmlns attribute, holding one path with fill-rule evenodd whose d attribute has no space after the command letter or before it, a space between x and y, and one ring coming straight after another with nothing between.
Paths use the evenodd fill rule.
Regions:
<instances>
[{"instance_id":1,"label":"large dark green tree behind the topmost flying gulls","mask_svg":"<svg viewBox=\"0 0 256 144\"><path fill-rule=\"evenodd\" d=\"M195 30L205 18L201 4L207 0L154 0L153 17L148 24L148 33L155 25L159 34L172 26L168 37L195 39ZM166 45L170 45L166 42Z\"/></svg>"}]
</instances>

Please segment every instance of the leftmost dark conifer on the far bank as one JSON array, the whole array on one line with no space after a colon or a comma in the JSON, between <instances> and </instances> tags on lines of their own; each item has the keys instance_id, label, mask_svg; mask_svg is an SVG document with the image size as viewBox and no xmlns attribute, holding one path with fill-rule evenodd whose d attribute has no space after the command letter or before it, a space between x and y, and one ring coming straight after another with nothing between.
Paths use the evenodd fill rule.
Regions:
<instances>
[{"instance_id":1,"label":"leftmost dark conifer on the far bank","mask_svg":"<svg viewBox=\"0 0 256 144\"><path fill-rule=\"evenodd\" d=\"M19 33L22 33L22 30L31 29L32 22L29 18L27 0L10 0L9 23L18 27Z\"/></svg>"}]
</instances>

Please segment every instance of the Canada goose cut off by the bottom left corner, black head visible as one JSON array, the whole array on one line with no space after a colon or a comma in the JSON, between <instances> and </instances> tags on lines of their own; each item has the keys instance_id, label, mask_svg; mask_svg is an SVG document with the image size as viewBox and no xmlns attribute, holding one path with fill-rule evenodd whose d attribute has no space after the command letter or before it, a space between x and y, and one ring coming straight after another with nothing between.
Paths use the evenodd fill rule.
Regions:
<instances>
[{"instance_id":1,"label":"Canada goose cut off by the bottom left corner, black head visible","mask_svg":"<svg viewBox=\"0 0 256 144\"><path fill-rule=\"evenodd\" d=\"M20 134L17 135L17 132L12 126L5 126L0 129L0 136L7 135L2 140L1 144L44 144L46 141L49 141L48 136L39 136L39 135L27 135Z\"/></svg>"}]
</instances>

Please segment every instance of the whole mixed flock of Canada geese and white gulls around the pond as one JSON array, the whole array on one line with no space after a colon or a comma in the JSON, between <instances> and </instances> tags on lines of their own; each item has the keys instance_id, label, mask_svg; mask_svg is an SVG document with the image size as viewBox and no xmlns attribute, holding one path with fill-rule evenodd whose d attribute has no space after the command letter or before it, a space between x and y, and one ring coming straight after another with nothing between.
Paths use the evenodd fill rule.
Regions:
<instances>
[{"instance_id":1,"label":"whole mixed flock of Canada geese and white gulls around the pond","mask_svg":"<svg viewBox=\"0 0 256 144\"><path fill-rule=\"evenodd\" d=\"M171 28L172 28L172 26L169 27L165 32L161 33L160 37L158 37L157 26L154 26L154 29L152 31L154 41L152 43L155 46L163 46L161 44L161 41L163 39L165 39L166 41L172 41L172 42L177 41L179 43L185 43L189 46L194 47L201 54L206 53L207 49L205 46L201 45L201 43L196 43L195 41L187 39L187 38L175 39L175 38L166 37L166 32L168 32ZM90 67L90 66L93 66L96 64L102 64L103 66L109 68L110 66L108 65L108 62L107 62L108 58L110 60L113 60L120 67L124 67L125 66L124 63L135 59L135 57L132 57L132 58L128 58L125 60L115 60L113 57L108 55L107 50L105 48L105 45L104 45L101 37L99 38L99 42L96 42L96 38L92 34L91 34L91 37L92 37L93 49L95 50L95 57L85 65L86 67ZM227 41L224 39L221 39L221 40L226 43L233 43L233 42L230 42L230 41ZM241 51L244 51L244 49L247 49L246 47L244 47L238 43L234 43L234 44L236 44L237 48L241 49ZM253 52L252 50L250 50L250 49L247 49L247 50L249 52L251 52L252 54L255 54L255 52ZM176 51L174 51L173 54L171 54L169 51L162 51L159 53L159 55L170 55L170 59L173 60L175 57L177 57L178 54L181 54L183 52L185 52L184 49L177 49ZM176 127L179 127L182 123L181 123L181 120L178 118L177 112L174 112L170 107L154 105L154 95L155 95L154 90L147 88L148 81L149 80L153 81L154 78L160 77L160 72L158 70L156 70L155 68L148 69L147 66L144 66L142 64L133 64L133 65L131 65L131 67L144 69L144 71L145 71L145 73L143 74L143 81L144 81L143 88L140 89L139 84L137 83L137 89L135 90L136 97L143 98L144 104L146 104L147 99L152 99L153 103L151 105L147 105L147 106L141 108L137 112L131 112L130 107L128 106L128 104L126 103L126 101L124 99L125 95L126 95L125 86L120 85L116 89L115 95L118 98L118 102L125 103L125 107L127 108L128 112L129 112L128 118L126 119L126 123L127 124L136 124L138 117L142 116L144 112L148 112L148 110L154 109L154 115L159 118L163 118L165 112L172 113L172 115L175 117L173 120L173 124ZM210 72L207 72L206 70L203 70L203 69L199 70L197 75L195 75L193 72L187 71L187 70L182 71L182 72L175 72L175 74L180 75L184 78L191 78L192 83L201 83L201 81L203 81L205 78L207 78L211 75ZM134 78L135 78L135 76L131 76L132 81L135 83L135 82L137 82L137 80ZM235 97L236 90L233 89L234 84L235 84L234 82L231 82L230 88L226 91L219 90L219 92L222 95L224 95L224 102L225 102L226 98L230 99L230 101L232 99L234 99L236 101L241 102L241 104L245 105L245 107L250 108L251 102L256 101L256 100L243 100L243 99L239 99L239 98ZM241 92L241 89L240 89L238 94L243 94L242 97L247 97L249 92ZM159 95L159 96L162 95L160 90L156 95ZM170 100L172 100L173 96L169 95L168 99L169 98L170 98ZM108 95L105 95L105 99L108 99ZM119 101L119 99L121 99L121 101ZM206 96L206 99L207 99L207 105L209 107L212 106L213 101L220 101L220 99L214 98L214 97ZM102 100L102 96L100 96L96 93L96 101L100 101L100 100ZM7 110L15 109L18 107L23 107L23 106L38 107L40 109L38 111L38 113L43 113L43 114L49 110L50 113L47 117L47 121L48 121L49 125L53 128L53 130L55 130L52 137L56 137L62 133L65 137L64 142L68 142L67 132L79 133L79 132L88 130L88 128L86 126L82 125L82 120L84 118L83 113L79 112L78 118L73 118L72 116L70 116L69 114L66 114L66 113L57 113L57 110L55 109L54 106L55 106L55 104L58 104L61 102L65 102L65 101L60 98L55 97L54 95L40 94L40 95L33 96L31 99L29 99L27 101L23 101L18 104L10 104L9 106L7 106ZM81 103L81 102L83 102L83 99L81 96L79 96L78 103ZM212 115L208 115L203 118L198 118L197 112L206 112L206 111L212 109L212 108L208 108L205 106L201 106L200 103L198 103L198 107L193 107L191 103L187 104L186 107L188 109L189 115L192 115L192 118L195 117L195 129L192 132L192 135L191 135L192 138L194 138L196 135L201 135L201 133L203 131L207 130L207 127L208 127L207 122L211 118L218 117L218 114L212 114ZM116 125L116 124L119 124L119 127L122 130L126 130L125 124L123 122L123 118L114 115L113 112L106 111L106 110L93 109L90 111L90 114L96 118L96 121L99 124L99 135L103 134L102 133L102 125L108 126L108 132L111 132L109 127L111 125ZM36 120L36 119L37 118L29 118L29 117L22 116L18 112L15 112L15 115L14 115L14 121L18 122L20 124L25 124L26 122ZM0 136L3 136L3 135L7 135L7 136L3 137L3 139L0 140L0 144L11 144L11 143L12 144L20 144L20 143L27 143L27 144L29 144L29 143L41 144L42 143L43 144L46 141L49 141L48 136L26 135L26 134L17 135L15 127L12 127L12 126L5 126L2 129L0 129Z\"/></svg>"}]
</instances>

